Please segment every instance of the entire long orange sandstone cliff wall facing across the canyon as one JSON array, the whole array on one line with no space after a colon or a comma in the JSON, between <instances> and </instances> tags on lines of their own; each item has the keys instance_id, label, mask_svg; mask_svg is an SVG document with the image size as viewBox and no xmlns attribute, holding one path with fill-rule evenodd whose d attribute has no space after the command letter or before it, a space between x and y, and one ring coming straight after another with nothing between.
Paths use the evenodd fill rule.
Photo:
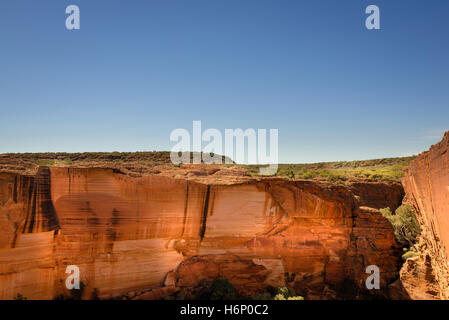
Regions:
<instances>
[{"instance_id":1,"label":"entire long orange sandstone cliff wall facing across the canyon","mask_svg":"<svg viewBox=\"0 0 449 320\"><path fill-rule=\"evenodd\" d=\"M385 296L364 290L365 270L380 268L381 288L398 278L400 250L377 209L402 195L376 186L367 197L373 185L0 172L0 298L70 297L68 265L80 268L85 299L193 297L221 278L242 296L286 284L312 299Z\"/></svg>"}]
</instances>

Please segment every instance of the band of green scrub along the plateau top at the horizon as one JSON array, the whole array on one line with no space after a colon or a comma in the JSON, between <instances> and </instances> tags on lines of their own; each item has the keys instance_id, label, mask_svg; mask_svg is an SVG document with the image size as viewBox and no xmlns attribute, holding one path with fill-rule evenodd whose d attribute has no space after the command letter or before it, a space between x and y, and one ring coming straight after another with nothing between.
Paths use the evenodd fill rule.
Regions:
<instances>
[{"instance_id":1,"label":"band of green scrub along the plateau top at the horizon","mask_svg":"<svg viewBox=\"0 0 449 320\"><path fill-rule=\"evenodd\" d=\"M194 153L190 154L191 161ZM370 179L378 181L397 181L403 177L403 169L415 157L385 158L365 161L321 162L313 164L279 164L276 176L288 179L316 179L331 183L345 183L350 179ZM20 166L77 166L111 163L130 167L144 166L156 170L157 166L173 165L170 152L84 152L84 153L17 153L0 155L4 163L20 161ZM263 165L224 164L223 167L244 168L251 176L259 176ZM17 165L19 166L19 165ZM16 166L16 167L17 167ZM13 166L14 167L14 166ZM14 168L13 168L14 169ZM138 169L143 170L143 169ZM157 170L156 170L157 171Z\"/></svg>"}]
</instances>

